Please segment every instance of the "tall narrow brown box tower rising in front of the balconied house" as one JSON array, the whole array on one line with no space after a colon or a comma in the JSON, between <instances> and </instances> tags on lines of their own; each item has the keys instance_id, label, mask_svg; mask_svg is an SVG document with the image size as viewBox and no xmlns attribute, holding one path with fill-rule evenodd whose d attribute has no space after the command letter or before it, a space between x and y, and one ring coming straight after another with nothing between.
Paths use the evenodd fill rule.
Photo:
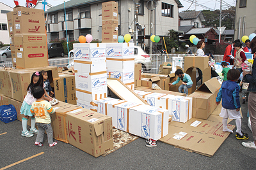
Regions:
<instances>
[{"instance_id":1,"label":"tall narrow brown box tower rising in front of the balconied house","mask_svg":"<svg viewBox=\"0 0 256 170\"><path fill-rule=\"evenodd\" d=\"M102 3L102 43L118 43L118 3Z\"/></svg>"}]
</instances>

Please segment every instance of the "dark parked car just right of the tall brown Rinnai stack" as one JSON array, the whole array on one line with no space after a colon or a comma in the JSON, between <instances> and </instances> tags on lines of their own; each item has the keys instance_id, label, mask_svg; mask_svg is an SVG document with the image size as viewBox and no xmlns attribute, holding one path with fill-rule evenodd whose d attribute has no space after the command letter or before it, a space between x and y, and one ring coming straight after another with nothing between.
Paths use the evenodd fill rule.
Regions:
<instances>
[{"instance_id":1,"label":"dark parked car just right of the tall brown Rinnai stack","mask_svg":"<svg viewBox=\"0 0 256 170\"><path fill-rule=\"evenodd\" d=\"M48 59L50 57L63 57L64 48L61 43L47 43L48 47Z\"/></svg>"}]
</instances>

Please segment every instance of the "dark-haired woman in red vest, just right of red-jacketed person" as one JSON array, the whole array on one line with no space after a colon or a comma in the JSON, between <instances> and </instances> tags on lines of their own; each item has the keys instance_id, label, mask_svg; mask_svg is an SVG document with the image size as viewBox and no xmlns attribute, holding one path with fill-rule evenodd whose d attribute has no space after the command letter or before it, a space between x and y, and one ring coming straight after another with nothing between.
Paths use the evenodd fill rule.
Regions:
<instances>
[{"instance_id":1,"label":"dark-haired woman in red vest, just right of red-jacketed person","mask_svg":"<svg viewBox=\"0 0 256 170\"><path fill-rule=\"evenodd\" d=\"M246 56L244 53L244 50L242 48L242 44L240 42L235 43L235 49L236 49L236 62L233 66L233 68L236 66L236 69L242 73L241 64L246 60Z\"/></svg>"}]
</instances>

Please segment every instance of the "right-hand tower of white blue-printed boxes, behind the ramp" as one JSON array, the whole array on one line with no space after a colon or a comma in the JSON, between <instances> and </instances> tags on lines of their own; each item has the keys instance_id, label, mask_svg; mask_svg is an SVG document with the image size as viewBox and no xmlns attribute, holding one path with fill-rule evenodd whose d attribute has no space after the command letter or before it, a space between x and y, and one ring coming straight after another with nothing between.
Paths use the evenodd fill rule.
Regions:
<instances>
[{"instance_id":1,"label":"right-hand tower of white blue-printed boxes, behind the ramp","mask_svg":"<svg viewBox=\"0 0 256 170\"><path fill-rule=\"evenodd\" d=\"M134 89L134 43L107 43L108 78L119 78Z\"/></svg>"}]
</instances>

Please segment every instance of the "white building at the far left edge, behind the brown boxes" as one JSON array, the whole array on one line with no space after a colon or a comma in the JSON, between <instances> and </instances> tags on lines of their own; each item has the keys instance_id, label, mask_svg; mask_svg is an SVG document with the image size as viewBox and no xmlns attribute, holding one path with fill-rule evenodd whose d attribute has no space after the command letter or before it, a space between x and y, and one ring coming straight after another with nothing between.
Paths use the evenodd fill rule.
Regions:
<instances>
[{"instance_id":1,"label":"white building at the far left edge, behind the brown boxes","mask_svg":"<svg viewBox=\"0 0 256 170\"><path fill-rule=\"evenodd\" d=\"M7 6L6 4L0 3L0 10L13 11L13 8L11 8L10 6ZM7 15L6 13L1 13L1 11L0 11L0 23L7 25L7 30L0 30L0 41L2 41L4 44L10 44Z\"/></svg>"}]
</instances>

